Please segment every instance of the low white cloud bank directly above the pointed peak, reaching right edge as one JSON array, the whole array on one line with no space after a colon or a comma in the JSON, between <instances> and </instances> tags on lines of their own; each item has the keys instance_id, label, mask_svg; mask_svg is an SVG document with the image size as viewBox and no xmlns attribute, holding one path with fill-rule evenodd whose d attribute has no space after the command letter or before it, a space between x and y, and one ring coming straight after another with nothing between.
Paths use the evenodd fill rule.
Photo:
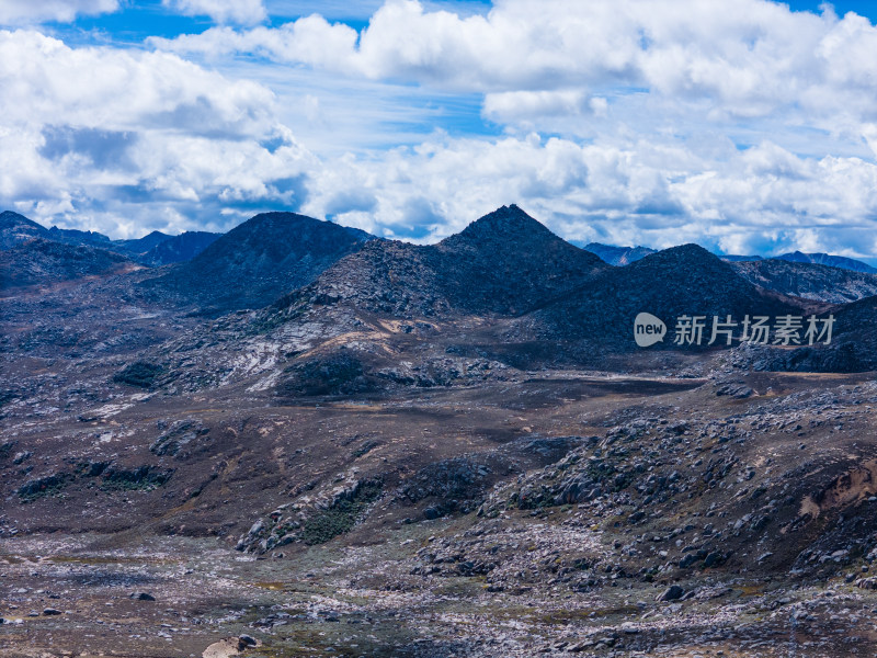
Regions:
<instances>
[{"instance_id":1,"label":"low white cloud bank directly above the pointed peak, reaching right edge","mask_svg":"<svg viewBox=\"0 0 877 658\"><path fill-rule=\"evenodd\" d=\"M338 203L339 189L357 190L367 204ZM874 242L876 191L873 162L799 157L770 141L718 162L660 139L436 137L320 169L304 212L429 242L519 203L579 242L863 256Z\"/></svg>"}]
</instances>

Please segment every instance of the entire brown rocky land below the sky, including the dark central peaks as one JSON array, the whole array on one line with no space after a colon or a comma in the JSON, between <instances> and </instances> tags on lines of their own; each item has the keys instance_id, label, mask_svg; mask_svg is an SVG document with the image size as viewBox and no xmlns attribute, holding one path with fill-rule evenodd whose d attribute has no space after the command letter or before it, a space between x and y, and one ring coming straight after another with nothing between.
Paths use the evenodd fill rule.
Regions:
<instances>
[{"instance_id":1,"label":"entire brown rocky land below the sky, including the dark central peaks","mask_svg":"<svg viewBox=\"0 0 877 658\"><path fill-rule=\"evenodd\" d=\"M516 206L316 222L130 271L55 243L0 298L4 656L875 653L877 297L612 266ZM836 321L641 349L642 310Z\"/></svg>"}]
</instances>

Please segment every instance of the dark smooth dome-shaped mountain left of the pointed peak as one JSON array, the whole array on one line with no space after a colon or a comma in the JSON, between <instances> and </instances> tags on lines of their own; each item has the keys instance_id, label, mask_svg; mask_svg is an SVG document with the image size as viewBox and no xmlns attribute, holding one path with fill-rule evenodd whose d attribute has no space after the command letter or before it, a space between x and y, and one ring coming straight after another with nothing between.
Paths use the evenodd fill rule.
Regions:
<instances>
[{"instance_id":1,"label":"dark smooth dome-shaped mountain left of the pointed peak","mask_svg":"<svg viewBox=\"0 0 877 658\"><path fill-rule=\"evenodd\" d=\"M206 315L260 308L310 283L369 239L365 231L331 222L295 213L263 213L141 286L150 295L197 304Z\"/></svg>"}]
</instances>

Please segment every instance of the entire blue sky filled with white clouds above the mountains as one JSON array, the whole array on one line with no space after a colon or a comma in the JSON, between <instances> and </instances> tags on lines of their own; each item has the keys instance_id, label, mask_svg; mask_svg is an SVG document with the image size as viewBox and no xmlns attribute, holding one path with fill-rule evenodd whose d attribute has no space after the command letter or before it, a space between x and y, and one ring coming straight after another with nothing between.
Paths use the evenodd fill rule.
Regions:
<instances>
[{"instance_id":1,"label":"entire blue sky filled with white clouds above the mountains","mask_svg":"<svg viewBox=\"0 0 877 658\"><path fill-rule=\"evenodd\" d=\"M853 13L847 13L853 12ZM877 11L8 0L0 206L113 237L288 208L432 241L877 254Z\"/></svg>"}]
</instances>

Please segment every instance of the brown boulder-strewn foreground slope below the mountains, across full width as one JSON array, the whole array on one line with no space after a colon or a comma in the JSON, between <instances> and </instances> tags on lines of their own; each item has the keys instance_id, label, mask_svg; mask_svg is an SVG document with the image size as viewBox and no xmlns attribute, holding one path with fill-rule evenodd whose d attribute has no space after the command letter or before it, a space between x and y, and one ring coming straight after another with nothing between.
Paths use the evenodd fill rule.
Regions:
<instances>
[{"instance_id":1,"label":"brown boulder-strewn foreground slope below the mountains, across full width","mask_svg":"<svg viewBox=\"0 0 877 658\"><path fill-rule=\"evenodd\" d=\"M873 377L533 375L13 423L3 655L875 651Z\"/></svg>"}]
</instances>

